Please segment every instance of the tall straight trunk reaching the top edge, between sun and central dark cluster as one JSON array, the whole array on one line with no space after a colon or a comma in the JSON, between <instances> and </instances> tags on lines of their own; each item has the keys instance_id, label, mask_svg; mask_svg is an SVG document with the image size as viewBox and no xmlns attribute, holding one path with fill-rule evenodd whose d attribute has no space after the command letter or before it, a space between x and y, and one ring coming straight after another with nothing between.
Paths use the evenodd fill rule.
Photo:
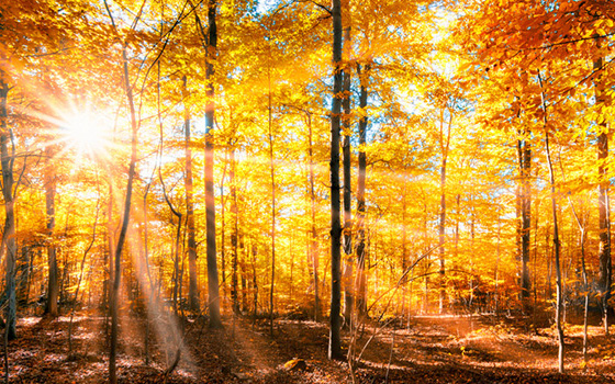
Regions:
<instances>
[{"instance_id":1,"label":"tall straight trunk reaching the top edge, between sun and central dark cluster","mask_svg":"<svg viewBox=\"0 0 615 384\"><path fill-rule=\"evenodd\" d=\"M221 328L220 317L220 290L217 280L217 261L215 248L215 196L213 191L213 124L215 115L214 103L214 60L217 52L217 27L216 27L216 0L209 0L208 20L209 38L206 47L206 91L205 91L205 216L206 216L206 244L208 244L208 289L210 327Z\"/></svg>"}]
</instances>

